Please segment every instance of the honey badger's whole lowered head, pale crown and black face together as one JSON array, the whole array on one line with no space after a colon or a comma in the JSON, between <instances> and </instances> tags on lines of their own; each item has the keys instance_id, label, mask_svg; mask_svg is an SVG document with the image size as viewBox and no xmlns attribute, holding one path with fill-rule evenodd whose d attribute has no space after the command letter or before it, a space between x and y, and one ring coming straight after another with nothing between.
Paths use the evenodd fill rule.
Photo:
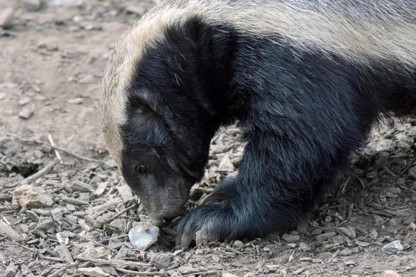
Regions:
<instances>
[{"instance_id":1,"label":"honey badger's whole lowered head, pale crown and black face together","mask_svg":"<svg viewBox=\"0 0 416 277\"><path fill-rule=\"evenodd\" d=\"M148 12L113 49L102 81L107 149L157 226L182 213L222 124L219 106L227 105L227 64L209 55L227 48L229 36L218 30L212 41L213 30L189 15Z\"/></svg>"}]
</instances>

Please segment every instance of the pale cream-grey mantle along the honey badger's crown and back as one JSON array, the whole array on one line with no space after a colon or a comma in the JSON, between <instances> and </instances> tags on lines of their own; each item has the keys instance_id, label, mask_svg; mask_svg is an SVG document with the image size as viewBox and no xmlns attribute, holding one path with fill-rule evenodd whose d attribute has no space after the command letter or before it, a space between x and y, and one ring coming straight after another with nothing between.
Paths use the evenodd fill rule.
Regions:
<instances>
[{"instance_id":1,"label":"pale cream-grey mantle along the honey badger's crown and back","mask_svg":"<svg viewBox=\"0 0 416 277\"><path fill-rule=\"evenodd\" d=\"M121 168L128 87L146 49L163 43L168 28L187 28L191 19L225 24L240 36L283 42L294 55L335 55L414 73L415 15L413 0L164 0L125 31L107 62L100 96L107 148Z\"/></svg>"}]
</instances>

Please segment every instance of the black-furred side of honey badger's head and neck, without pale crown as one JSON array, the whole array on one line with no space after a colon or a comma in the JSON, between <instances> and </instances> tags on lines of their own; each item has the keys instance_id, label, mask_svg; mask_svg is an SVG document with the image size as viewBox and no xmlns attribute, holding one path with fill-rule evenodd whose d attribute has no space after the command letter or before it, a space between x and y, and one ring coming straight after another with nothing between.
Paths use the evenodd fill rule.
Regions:
<instances>
[{"instance_id":1,"label":"black-furred side of honey badger's head and neck, without pale crown","mask_svg":"<svg viewBox=\"0 0 416 277\"><path fill-rule=\"evenodd\" d=\"M142 49L123 88L123 150L115 156L157 226L180 215L203 176L212 136L229 118L230 32L208 27L192 20L166 28Z\"/></svg>"}]
</instances>

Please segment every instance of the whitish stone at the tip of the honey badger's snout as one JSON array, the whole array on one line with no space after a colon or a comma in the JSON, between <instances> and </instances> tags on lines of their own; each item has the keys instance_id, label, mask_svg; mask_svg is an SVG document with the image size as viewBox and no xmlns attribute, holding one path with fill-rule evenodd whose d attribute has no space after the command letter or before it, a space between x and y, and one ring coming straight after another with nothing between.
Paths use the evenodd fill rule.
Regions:
<instances>
[{"instance_id":1,"label":"whitish stone at the tip of the honey badger's snout","mask_svg":"<svg viewBox=\"0 0 416 277\"><path fill-rule=\"evenodd\" d=\"M157 241L159 228L153 224L143 222L133 222L132 229L128 232L128 238L135 247L141 250L148 249Z\"/></svg>"}]
</instances>

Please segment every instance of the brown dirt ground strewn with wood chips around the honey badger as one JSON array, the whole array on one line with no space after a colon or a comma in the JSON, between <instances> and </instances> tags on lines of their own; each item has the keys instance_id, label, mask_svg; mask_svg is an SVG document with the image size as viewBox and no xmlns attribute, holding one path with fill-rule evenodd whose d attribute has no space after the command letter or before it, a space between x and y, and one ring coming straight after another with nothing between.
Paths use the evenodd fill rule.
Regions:
<instances>
[{"instance_id":1,"label":"brown dirt ground strewn with wood chips around the honey badger","mask_svg":"<svg viewBox=\"0 0 416 277\"><path fill-rule=\"evenodd\" d=\"M413 122L375 132L298 231L182 251L167 228L150 249L133 247L132 222L146 215L105 150L98 89L112 46L155 2L39 3L0 0L0 24L14 9L0 29L0 276L416 276ZM191 203L235 172L237 136L216 136ZM62 163L42 175L59 162L50 139ZM22 207L25 183L43 204ZM382 250L390 242L395 253Z\"/></svg>"}]
</instances>

